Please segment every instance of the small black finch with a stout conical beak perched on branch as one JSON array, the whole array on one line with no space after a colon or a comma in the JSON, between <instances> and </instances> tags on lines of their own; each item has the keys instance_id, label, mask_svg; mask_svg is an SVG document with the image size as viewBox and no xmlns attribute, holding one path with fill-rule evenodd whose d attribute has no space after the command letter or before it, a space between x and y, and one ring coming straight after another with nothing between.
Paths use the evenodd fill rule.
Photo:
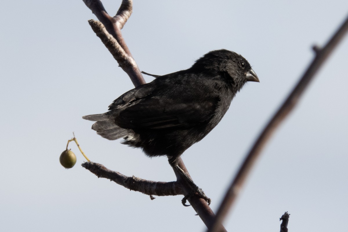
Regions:
<instances>
[{"instance_id":1,"label":"small black finch with a stout conical beak perched on branch","mask_svg":"<svg viewBox=\"0 0 348 232\"><path fill-rule=\"evenodd\" d=\"M104 138L124 138L123 144L141 147L149 157L167 155L179 171L180 155L220 122L247 81L259 82L244 57L225 49L205 54L187 70L155 77L121 95L108 112L83 118L96 121L92 129Z\"/></svg>"}]
</instances>

